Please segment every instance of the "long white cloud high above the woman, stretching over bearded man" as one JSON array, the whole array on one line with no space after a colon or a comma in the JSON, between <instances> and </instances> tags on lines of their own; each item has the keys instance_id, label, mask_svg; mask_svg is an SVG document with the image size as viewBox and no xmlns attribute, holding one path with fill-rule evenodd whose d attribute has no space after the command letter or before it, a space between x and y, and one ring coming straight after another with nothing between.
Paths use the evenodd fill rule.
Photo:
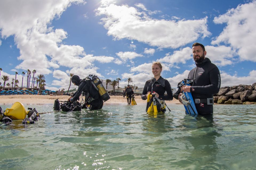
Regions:
<instances>
[{"instance_id":1,"label":"long white cloud high above the woman, stretching over bearded man","mask_svg":"<svg viewBox=\"0 0 256 170\"><path fill-rule=\"evenodd\" d=\"M142 5L140 5L142 7ZM102 18L107 34L116 40L127 38L162 48L178 48L207 37L207 17L198 20L158 20L139 12L128 5L110 4L97 8L96 15Z\"/></svg>"}]
</instances>

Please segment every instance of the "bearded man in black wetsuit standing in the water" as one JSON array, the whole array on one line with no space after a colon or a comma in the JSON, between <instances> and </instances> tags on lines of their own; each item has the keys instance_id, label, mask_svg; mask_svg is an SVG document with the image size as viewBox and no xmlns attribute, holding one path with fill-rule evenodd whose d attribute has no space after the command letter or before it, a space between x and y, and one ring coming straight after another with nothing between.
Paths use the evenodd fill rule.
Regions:
<instances>
[{"instance_id":1,"label":"bearded man in black wetsuit standing in the water","mask_svg":"<svg viewBox=\"0 0 256 170\"><path fill-rule=\"evenodd\" d=\"M192 52L196 67L190 71L187 78L194 79L194 82L192 86L182 86L181 90L191 92L199 114L213 114L213 94L218 93L221 86L219 69L205 57L206 51L202 44L194 43Z\"/></svg>"}]
</instances>

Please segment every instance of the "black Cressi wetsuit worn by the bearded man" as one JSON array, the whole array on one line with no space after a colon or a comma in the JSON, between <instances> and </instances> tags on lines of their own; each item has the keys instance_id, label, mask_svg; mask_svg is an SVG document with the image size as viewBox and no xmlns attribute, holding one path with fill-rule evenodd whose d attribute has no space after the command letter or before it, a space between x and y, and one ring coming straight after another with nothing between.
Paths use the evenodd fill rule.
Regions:
<instances>
[{"instance_id":1,"label":"black Cressi wetsuit worn by the bearded man","mask_svg":"<svg viewBox=\"0 0 256 170\"><path fill-rule=\"evenodd\" d=\"M221 86L221 76L216 65L211 63L209 58L205 58L202 62L195 62L196 66L188 75L189 79L195 79L193 84L190 84L190 92L193 99L213 98L213 94L219 92ZM196 71L195 71L196 70ZM195 104L199 114L213 113L213 105L207 103Z\"/></svg>"}]
</instances>

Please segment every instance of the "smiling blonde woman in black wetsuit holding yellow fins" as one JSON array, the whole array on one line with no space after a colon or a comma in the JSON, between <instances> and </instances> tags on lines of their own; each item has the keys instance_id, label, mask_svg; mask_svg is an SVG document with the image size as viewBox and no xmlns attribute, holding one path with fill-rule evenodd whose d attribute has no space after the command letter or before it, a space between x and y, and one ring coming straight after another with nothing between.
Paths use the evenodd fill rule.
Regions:
<instances>
[{"instance_id":1,"label":"smiling blonde woman in black wetsuit holding yellow fins","mask_svg":"<svg viewBox=\"0 0 256 170\"><path fill-rule=\"evenodd\" d=\"M168 80L161 77L160 75L161 71L162 71L161 63L153 62L152 73L154 77L146 81L142 95L141 95L142 100L147 100L147 107L146 107L147 112L151 112L153 109L152 107L154 106L157 108L157 111L156 111L156 108L153 109L154 113L165 112L166 104L164 100L173 100L171 85L168 82ZM165 95L165 92L167 92L167 95Z\"/></svg>"}]
</instances>

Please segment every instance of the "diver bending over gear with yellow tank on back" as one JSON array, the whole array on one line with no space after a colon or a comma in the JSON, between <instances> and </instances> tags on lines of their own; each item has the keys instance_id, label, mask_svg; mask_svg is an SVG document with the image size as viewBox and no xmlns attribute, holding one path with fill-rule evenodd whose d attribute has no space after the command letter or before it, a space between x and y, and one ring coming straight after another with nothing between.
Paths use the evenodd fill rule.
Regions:
<instances>
[{"instance_id":1,"label":"diver bending over gear with yellow tank on back","mask_svg":"<svg viewBox=\"0 0 256 170\"><path fill-rule=\"evenodd\" d=\"M85 104L90 105L90 110L97 110L102 108L103 100L110 99L101 80L95 75L89 75L85 79L80 79L78 75L74 75L71 81L75 86L78 86L77 91L68 100L71 103L79 100L80 95L83 93L86 96Z\"/></svg>"}]
</instances>

